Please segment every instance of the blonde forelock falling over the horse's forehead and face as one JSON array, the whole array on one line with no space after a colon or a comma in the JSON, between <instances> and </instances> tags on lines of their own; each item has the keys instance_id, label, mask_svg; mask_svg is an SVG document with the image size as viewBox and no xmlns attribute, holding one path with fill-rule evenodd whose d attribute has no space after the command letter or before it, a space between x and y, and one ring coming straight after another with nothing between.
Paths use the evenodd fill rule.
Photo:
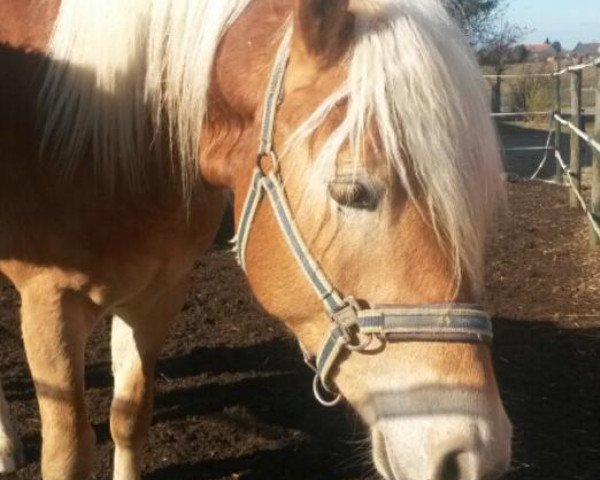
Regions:
<instances>
[{"instance_id":1,"label":"blonde forelock falling over the horse's forehead and face","mask_svg":"<svg viewBox=\"0 0 600 480\"><path fill-rule=\"evenodd\" d=\"M344 100L344 120L316 154L316 181L330 178L345 145L359 162L374 126L381 157L448 246L457 288L467 280L479 293L486 233L503 204L504 186L471 48L440 0L352 4L358 13L348 80L297 130L288 148L310 137Z\"/></svg>"}]
</instances>

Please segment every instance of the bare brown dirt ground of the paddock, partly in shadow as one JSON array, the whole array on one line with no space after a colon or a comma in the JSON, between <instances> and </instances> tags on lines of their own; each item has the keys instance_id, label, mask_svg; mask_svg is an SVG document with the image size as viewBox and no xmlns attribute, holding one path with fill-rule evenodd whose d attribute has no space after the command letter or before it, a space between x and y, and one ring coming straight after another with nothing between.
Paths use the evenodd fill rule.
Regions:
<instances>
[{"instance_id":1,"label":"bare brown dirt ground of the paddock, partly in shadow","mask_svg":"<svg viewBox=\"0 0 600 480\"><path fill-rule=\"evenodd\" d=\"M600 253L588 249L566 190L509 184L511 213L489 252L487 308L502 396L515 425L511 480L600 478ZM0 286L0 374L39 477L39 419L22 351L18 298ZM108 322L93 337L87 386L97 479L110 478ZM144 478L370 478L365 432L343 408L316 405L310 375L281 326L252 302L232 255L195 270L157 370ZM374 477L373 477L374 478Z\"/></svg>"}]
</instances>

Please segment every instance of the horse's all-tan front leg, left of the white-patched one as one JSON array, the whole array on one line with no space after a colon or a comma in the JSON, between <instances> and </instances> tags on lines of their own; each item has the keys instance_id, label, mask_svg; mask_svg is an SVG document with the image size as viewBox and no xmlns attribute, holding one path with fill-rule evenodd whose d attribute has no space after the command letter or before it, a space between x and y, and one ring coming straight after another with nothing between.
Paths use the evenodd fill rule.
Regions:
<instances>
[{"instance_id":1,"label":"horse's all-tan front leg, left of the white-patched one","mask_svg":"<svg viewBox=\"0 0 600 480\"><path fill-rule=\"evenodd\" d=\"M97 320L83 294L31 280L21 290L25 352L42 420L44 480L89 478L95 435L84 399L84 350Z\"/></svg>"}]
</instances>

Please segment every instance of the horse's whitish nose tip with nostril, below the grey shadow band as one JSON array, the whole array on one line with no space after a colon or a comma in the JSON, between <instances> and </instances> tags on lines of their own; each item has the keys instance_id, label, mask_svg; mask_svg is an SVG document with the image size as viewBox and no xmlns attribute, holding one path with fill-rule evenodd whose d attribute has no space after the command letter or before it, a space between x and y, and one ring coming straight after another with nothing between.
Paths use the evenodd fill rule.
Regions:
<instances>
[{"instance_id":1,"label":"horse's whitish nose tip with nostril, below the grey shadow band","mask_svg":"<svg viewBox=\"0 0 600 480\"><path fill-rule=\"evenodd\" d=\"M375 468L385 480L496 480L511 458L512 427L500 421L499 430L451 414L379 420L371 428Z\"/></svg>"}]
</instances>

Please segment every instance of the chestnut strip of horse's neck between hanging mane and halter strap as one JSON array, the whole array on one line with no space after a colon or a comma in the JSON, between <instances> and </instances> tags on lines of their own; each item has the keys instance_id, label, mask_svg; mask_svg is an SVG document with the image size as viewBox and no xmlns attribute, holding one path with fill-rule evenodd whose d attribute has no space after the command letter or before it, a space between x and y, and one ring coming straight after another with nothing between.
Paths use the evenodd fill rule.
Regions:
<instances>
[{"instance_id":1,"label":"chestnut strip of horse's neck between hanging mane and halter strap","mask_svg":"<svg viewBox=\"0 0 600 480\"><path fill-rule=\"evenodd\" d=\"M252 2L223 38L209 91L200 170L209 182L231 187L254 163L257 118L279 46L290 0Z\"/></svg>"}]
</instances>

